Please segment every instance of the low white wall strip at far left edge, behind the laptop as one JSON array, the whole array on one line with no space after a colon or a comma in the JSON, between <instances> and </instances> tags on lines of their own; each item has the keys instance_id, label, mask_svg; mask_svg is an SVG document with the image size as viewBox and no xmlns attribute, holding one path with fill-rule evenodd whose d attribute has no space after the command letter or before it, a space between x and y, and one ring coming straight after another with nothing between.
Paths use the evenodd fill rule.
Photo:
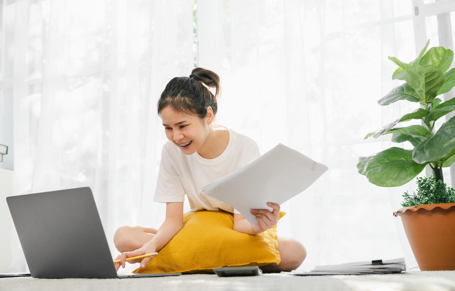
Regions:
<instances>
[{"instance_id":1,"label":"low white wall strip at far left edge, behind the laptop","mask_svg":"<svg viewBox=\"0 0 455 291\"><path fill-rule=\"evenodd\" d=\"M11 263L11 231L13 220L6 204L6 197L13 195L13 171L0 169L0 273L10 272Z\"/></svg>"}]
</instances>

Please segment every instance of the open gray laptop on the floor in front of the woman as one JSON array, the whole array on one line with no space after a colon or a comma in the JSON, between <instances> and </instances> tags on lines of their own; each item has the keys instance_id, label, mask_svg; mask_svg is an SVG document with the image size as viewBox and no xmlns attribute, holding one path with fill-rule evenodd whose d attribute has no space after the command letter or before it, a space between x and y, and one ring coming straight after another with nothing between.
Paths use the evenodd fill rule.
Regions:
<instances>
[{"instance_id":1,"label":"open gray laptop on the floor in front of the woman","mask_svg":"<svg viewBox=\"0 0 455 291\"><path fill-rule=\"evenodd\" d=\"M89 187L10 196L6 202L34 278L182 275L117 273Z\"/></svg>"}]
</instances>

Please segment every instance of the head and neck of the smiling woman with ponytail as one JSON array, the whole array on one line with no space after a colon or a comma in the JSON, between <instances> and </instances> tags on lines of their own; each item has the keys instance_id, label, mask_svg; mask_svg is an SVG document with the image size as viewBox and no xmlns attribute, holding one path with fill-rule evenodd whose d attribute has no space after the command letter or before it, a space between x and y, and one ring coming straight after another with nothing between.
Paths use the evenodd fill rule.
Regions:
<instances>
[{"instance_id":1,"label":"head and neck of the smiling woman with ponytail","mask_svg":"<svg viewBox=\"0 0 455 291\"><path fill-rule=\"evenodd\" d=\"M215 88L215 95L210 87ZM187 155L197 151L207 159L220 156L229 140L227 131L218 134L213 126L220 94L220 79L211 70L195 68L189 77L172 78L157 105L167 139Z\"/></svg>"}]
</instances>

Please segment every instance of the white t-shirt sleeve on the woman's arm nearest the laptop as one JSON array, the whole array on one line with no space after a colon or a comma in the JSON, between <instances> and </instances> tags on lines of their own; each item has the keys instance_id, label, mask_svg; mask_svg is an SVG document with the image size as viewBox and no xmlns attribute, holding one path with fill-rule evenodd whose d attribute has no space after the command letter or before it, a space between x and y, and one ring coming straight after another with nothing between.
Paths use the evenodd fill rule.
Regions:
<instances>
[{"instance_id":1,"label":"white t-shirt sleeve on the woman's arm nearest the laptop","mask_svg":"<svg viewBox=\"0 0 455 291\"><path fill-rule=\"evenodd\" d=\"M161 152L160 169L158 171L157 188L154 202L183 202L185 201L185 189L182 181L172 166L166 148Z\"/></svg>"}]
</instances>

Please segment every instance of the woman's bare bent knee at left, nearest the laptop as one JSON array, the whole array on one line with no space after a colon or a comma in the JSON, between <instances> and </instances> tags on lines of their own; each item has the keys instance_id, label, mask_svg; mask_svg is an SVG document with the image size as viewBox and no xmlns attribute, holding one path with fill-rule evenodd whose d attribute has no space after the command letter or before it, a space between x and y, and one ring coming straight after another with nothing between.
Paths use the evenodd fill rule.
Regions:
<instances>
[{"instance_id":1,"label":"woman's bare bent knee at left, nearest the laptop","mask_svg":"<svg viewBox=\"0 0 455 291\"><path fill-rule=\"evenodd\" d=\"M134 251L150 241L157 231L146 226L120 226L114 234L114 245L120 252Z\"/></svg>"}]
</instances>

